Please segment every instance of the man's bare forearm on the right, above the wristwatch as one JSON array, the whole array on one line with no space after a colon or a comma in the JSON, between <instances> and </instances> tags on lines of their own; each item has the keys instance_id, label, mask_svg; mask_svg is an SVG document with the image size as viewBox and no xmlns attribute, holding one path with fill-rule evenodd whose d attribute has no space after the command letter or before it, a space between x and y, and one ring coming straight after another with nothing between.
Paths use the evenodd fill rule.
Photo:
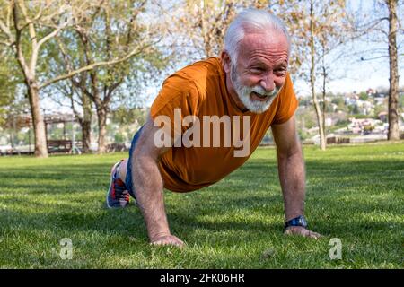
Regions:
<instances>
[{"instance_id":1,"label":"man's bare forearm on the right, above the wristwatch","mask_svg":"<svg viewBox=\"0 0 404 287\"><path fill-rule=\"evenodd\" d=\"M277 161L288 221L304 213L305 174L301 147L286 155L278 154Z\"/></svg>"}]
</instances>

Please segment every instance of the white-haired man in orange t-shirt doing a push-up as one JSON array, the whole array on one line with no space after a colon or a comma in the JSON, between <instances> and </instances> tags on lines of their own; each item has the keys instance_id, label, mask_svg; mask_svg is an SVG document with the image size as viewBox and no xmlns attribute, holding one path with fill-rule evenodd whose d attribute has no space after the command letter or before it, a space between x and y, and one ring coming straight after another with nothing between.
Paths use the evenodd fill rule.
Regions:
<instances>
[{"instance_id":1,"label":"white-haired man in orange t-shirt doing a push-up","mask_svg":"<svg viewBox=\"0 0 404 287\"><path fill-rule=\"evenodd\" d=\"M307 229L303 216L304 163L294 123L298 103L287 72L289 53L288 33L276 16L255 9L240 13L226 31L220 58L189 65L164 81L145 126L134 136L129 159L111 170L107 205L125 207L133 196L151 243L182 246L169 229L163 187L189 192L213 185L248 160L271 126L285 202L284 232L320 238ZM231 138L238 141L229 144L224 128L206 134L206 118L231 123ZM192 141L187 135L191 126ZM198 135L201 130L204 134ZM212 144L210 135L219 135L219 141ZM239 144L241 135L248 146ZM198 144L185 144L184 136Z\"/></svg>"}]
</instances>

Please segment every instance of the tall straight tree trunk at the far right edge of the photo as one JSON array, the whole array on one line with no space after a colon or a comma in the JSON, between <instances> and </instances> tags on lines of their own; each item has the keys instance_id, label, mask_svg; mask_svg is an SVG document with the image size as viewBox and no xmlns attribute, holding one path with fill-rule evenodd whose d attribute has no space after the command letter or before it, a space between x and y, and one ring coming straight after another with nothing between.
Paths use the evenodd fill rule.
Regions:
<instances>
[{"instance_id":1,"label":"tall straight tree trunk at the far right edge of the photo","mask_svg":"<svg viewBox=\"0 0 404 287\"><path fill-rule=\"evenodd\" d=\"M389 7L389 62L390 62L390 91L389 91L389 133L388 140L400 140L399 130L399 68L397 56L397 0L387 0Z\"/></svg>"}]
</instances>

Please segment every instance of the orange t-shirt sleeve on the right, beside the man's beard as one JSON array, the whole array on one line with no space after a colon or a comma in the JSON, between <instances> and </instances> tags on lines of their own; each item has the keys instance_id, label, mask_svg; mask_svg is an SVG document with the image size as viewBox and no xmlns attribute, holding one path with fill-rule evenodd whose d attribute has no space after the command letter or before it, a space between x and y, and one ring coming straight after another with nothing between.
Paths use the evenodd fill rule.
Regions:
<instances>
[{"instance_id":1,"label":"orange t-shirt sleeve on the right, beside the man's beard","mask_svg":"<svg viewBox=\"0 0 404 287\"><path fill-rule=\"evenodd\" d=\"M294 112L299 106L299 102L294 94L294 85L290 74L286 75L286 80L282 91L279 94L279 103L277 113L275 114L272 125L281 125L293 117Z\"/></svg>"}]
</instances>

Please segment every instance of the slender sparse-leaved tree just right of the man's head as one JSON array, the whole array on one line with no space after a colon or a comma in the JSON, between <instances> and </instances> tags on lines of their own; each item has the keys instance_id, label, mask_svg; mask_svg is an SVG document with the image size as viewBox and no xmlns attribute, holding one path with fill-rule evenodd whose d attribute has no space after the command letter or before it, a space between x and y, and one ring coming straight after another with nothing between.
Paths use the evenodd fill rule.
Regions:
<instances>
[{"instance_id":1,"label":"slender sparse-leaved tree just right of the man's head","mask_svg":"<svg viewBox=\"0 0 404 287\"><path fill-rule=\"evenodd\" d=\"M345 1L323 2L310 0L287 2L287 18L294 42L293 56L296 74L310 83L313 108L319 127L321 151L326 149L325 111L326 83L329 74L327 57L341 45L347 32ZM322 76L321 90L323 104L318 99L317 88Z\"/></svg>"}]
</instances>

